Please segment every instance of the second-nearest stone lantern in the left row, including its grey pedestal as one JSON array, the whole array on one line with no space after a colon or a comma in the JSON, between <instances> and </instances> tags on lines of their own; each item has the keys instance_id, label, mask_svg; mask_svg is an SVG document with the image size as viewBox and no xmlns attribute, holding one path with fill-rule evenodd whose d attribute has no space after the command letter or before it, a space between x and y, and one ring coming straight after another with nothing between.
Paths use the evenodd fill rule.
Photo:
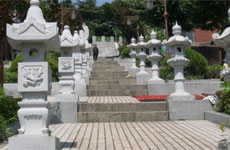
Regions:
<instances>
[{"instance_id":1,"label":"second-nearest stone lantern in the left row, including its grey pedestal","mask_svg":"<svg viewBox=\"0 0 230 150\"><path fill-rule=\"evenodd\" d=\"M53 107L58 108L58 110L52 111L59 113L57 113L58 115L55 114L55 120L52 121L55 123L74 123L77 122L79 96L74 91L74 58L72 53L79 46L79 39L72 36L69 26L66 25L60 36L60 43L61 57L58 59L58 71L61 77L59 77L59 94L55 96L55 102L58 106Z\"/></svg>"}]
</instances>

